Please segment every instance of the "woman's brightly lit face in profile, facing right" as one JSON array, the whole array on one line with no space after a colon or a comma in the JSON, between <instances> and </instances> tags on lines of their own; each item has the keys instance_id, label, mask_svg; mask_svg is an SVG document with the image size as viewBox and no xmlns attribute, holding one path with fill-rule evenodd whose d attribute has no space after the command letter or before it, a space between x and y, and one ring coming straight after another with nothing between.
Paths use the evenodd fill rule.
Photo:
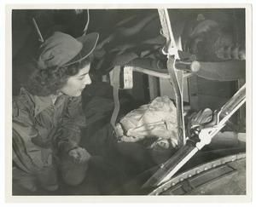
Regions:
<instances>
[{"instance_id":1,"label":"woman's brightly lit face in profile, facing right","mask_svg":"<svg viewBox=\"0 0 256 207\"><path fill-rule=\"evenodd\" d=\"M81 95L86 85L91 83L90 64L80 69L79 73L67 79L67 83L61 88L61 92L69 96Z\"/></svg>"}]
</instances>

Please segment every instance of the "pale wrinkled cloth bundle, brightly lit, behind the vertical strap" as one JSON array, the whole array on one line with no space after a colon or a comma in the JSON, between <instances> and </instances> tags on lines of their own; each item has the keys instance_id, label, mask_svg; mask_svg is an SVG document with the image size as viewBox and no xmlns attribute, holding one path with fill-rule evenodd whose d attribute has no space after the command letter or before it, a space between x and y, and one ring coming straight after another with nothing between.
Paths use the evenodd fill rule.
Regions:
<instances>
[{"instance_id":1,"label":"pale wrinkled cloth bundle, brightly lit, behind the vertical strap","mask_svg":"<svg viewBox=\"0 0 256 207\"><path fill-rule=\"evenodd\" d=\"M177 110L167 96L129 112L116 125L121 141L139 141L147 137L170 140L177 147Z\"/></svg>"}]
</instances>

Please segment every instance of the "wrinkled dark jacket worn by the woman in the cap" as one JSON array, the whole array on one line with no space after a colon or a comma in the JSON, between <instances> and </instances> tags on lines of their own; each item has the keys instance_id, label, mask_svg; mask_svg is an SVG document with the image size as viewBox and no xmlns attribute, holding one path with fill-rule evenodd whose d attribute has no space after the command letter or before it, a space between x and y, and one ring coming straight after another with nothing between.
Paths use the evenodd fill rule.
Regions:
<instances>
[{"instance_id":1,"label":"wrinkled dark jacket worn by the woman in the cap","mask_svg":"<svg viewBox=\"0 0 256 207\"><path fill-rule=\"evenodd\" d=\"M20 184L25 188L32 184L36 187L36 182L45 188L57 187L57 164L62 155L79 147L83 126L80 97L61 95L54 103L50 96L39 97L21 89L13 100L13 163L17 175L13 179L20 184L22 177L30 177L31 183Z\"/></svg>"}]
</instances>

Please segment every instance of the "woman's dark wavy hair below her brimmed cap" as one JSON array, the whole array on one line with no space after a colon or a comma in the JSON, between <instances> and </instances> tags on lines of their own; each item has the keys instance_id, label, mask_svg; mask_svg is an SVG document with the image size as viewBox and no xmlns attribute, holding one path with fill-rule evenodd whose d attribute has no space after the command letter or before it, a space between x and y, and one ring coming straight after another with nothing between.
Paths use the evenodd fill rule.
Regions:
<instances>
[{"instance_id":1,"label":"woman's dark wavy hair below her brimmed cap","mask_svg":"<svg viewBox=\"0 0 256 207\"><path fill-rule=\"evenodd\" d=\"M55 95L66 83L67 79L79 73L79 70L90 64L90 57L76 62L71 66L54 66L40 70L37 62L33 61L35 68L23 87L32 95Z\"/></svg>"}]
</instances>

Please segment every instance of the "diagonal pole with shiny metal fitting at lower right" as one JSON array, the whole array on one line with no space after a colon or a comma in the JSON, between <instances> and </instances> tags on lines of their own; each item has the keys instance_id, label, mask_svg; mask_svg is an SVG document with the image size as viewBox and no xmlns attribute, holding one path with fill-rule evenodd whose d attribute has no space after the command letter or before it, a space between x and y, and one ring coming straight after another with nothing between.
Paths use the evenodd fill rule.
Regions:
<instances>
[{"instance_id":1,"label":"diagonal pole with shiny metal fitting at lower right","mask_svg":"<svg viewBox=\"0 0 256 207\"><path fill-rule=\"evenodd\" d=\"M246 85L244 84L241 89L232 96L230 101L227 101L224 106L216 112L216 124L211 127L201 129L199 134L200 141L196 142L195 145L191 145L189 141L187 141L186 145L179 148L172 158L168 159L165 164L160 165L160 169L148 179L143 187L159 187L166 181L169 181L172 176L175 175L177 171L195 155L196 152L212 141L214 135L217 135L220 129L224 128L225 123L245 103L245 101Z\"/></svg>"}]
</instances>

